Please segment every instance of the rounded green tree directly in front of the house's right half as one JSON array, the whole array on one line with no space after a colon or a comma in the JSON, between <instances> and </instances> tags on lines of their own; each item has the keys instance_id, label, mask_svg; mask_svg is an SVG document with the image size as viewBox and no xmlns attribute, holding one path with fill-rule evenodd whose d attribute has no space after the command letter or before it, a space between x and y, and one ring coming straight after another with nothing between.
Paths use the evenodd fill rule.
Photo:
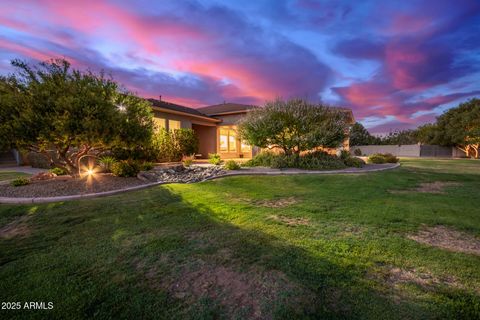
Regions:
<instances>
[{"instance_id":1,"label":"rounded green tree directly in front of the house's right half","mask_svg":"<svg viewBox=\"0 0 480 320\"><path fill-rule=\"evenodd\" d=\"M299 154L316 147L340 146L348 132L346 117L341 110L302 99L277 99L249 112L239 133L250 145Z\"/></svg>"}]
</instances>

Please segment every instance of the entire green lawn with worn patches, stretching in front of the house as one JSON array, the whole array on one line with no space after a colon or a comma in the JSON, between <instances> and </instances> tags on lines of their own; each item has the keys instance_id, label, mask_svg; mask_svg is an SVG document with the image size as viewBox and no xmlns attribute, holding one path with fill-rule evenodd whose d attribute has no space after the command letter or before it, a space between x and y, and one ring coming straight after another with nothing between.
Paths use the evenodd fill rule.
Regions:
<instances>
[{"instance_id":1,"label":"entire green lawn with worn patches, stretching in front of the house","mask_svg":"<svg viewBox=\"0 0 480 320\"><path fill-rule=\"evenodd\" d=\"M443 193L415 191L448 182ZM409 238L480 236L480 161L358 175L229 177L0 206L1 310L49 318L480 317L480 256ZM473 241L473 240L472 240Z\"/></svg>"}]
</instances>

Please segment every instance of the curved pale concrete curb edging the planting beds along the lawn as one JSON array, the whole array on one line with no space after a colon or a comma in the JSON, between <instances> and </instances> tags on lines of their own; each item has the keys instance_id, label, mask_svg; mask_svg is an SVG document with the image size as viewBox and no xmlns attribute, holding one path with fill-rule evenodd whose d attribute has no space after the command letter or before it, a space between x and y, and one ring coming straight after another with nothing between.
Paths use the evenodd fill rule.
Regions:
<instances>
[{"instance_id":1,"label":"curved pale concrete curb edging the planting beds along the lawn","mask_svg":"<svg viewBox=\"0 0 480 320\"><path fill-rule=\"evenodd\" d=\"M398 168L400 163L395 163L389 167L382 167L382 168L372 168L368 170L359 170L359 169L343 169L343 170L330 170L330 171L305 171L305 170L279 170L279 171L272 171L272 172L265 172L265 171L245 171L245 172L228 172L221 176L215 176L211 178L207 178L202 181L208 180L215 180L220 178L226 177L233 177L233 176L276 176L276 175L296 175L296 174L358 174L358 173L368 173L368 172L378 172L378 171L385 171ZM199 181L201 182L201 181ZM88 198L98 198L98 197L106 197L111 196L119 193L141 190L153 186L159 186L162 184L170 184L172 182L153 182L142 184L135 187L129 187L125 189L118 189L118 190L111 190L111 191L104 191L98 193L87 193L87 194L76 194L70 196L59 196L59 197L35 197L35 198L9 198L9 197L0 197L0 203L3 204L32 204L32 203L48 203L48 202L61 202L61 201L69 201L69 200L79 200L79 199L88 199Z\"/></svg>"}]
</instances>

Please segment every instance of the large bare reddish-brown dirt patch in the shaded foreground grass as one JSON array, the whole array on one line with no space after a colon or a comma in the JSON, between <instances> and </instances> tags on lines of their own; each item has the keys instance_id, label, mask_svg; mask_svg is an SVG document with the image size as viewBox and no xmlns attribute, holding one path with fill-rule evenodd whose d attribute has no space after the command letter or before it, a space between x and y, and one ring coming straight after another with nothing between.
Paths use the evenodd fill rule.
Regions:
<instances>
[{"instance_id":1,"label":"large bare reddish-brown dirt patch in the shaded foreground grass","mask_svg":"<svg viewBox=\"0 0 480 320\"><path fill-rule=\"evenodd\" d=\"M302 299L308 296L279 271L250 268L239 272L207 263L194 270L184 270L169 291L180 299L209 297L219 303L229 317L242 314L250 319L272 318L272 303L282 299L287 303L287 296L288 303L296 307L306 305ZM287 296L282 297L283 294Z\"/></svg>"}]
</instances>

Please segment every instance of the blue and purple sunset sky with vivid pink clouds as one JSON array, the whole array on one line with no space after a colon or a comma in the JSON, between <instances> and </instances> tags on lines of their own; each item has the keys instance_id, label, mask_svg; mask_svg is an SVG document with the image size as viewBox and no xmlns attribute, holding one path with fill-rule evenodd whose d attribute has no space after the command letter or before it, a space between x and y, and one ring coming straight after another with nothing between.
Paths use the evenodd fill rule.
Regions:
<instances>
[{"instance_id":1,"label":"blue and purple sunset sky with vivid pink clouds","mask_svg":"<svg viewBox=\"0 0 480 320\"><path fill-rule=\"evenodd\" d=\"M0 74L66 58L189 107L300 97L373 133L480 97L480 0L2 0Z\"/></svg>"}]
</instances>

